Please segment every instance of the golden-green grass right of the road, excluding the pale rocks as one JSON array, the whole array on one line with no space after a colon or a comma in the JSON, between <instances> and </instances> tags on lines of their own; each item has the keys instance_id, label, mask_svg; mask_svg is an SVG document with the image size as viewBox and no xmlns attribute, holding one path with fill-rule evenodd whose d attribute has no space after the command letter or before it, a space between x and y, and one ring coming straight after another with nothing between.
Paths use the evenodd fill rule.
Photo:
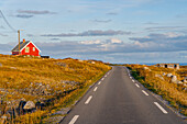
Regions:
<instances>
[{"instance_id":1,"label":"golden-green grass right of the road, excluding the pale rocks","mask_svg":"<svg viewBox=\"0 0 187 124\"><path fill-rule=\"evenodd\" d=\"M184 87L172 83L168 77L164 77L164 80L155 77L156 74L170 72L176 75L178 79L183 79L177 71L184 70L148 67L151 69L151 71L148 71L141 65L128 65L127 67L131 70L132 76L145 88L160 94L164 100L168 101L172 106L177 109L178 112L187 116L187 91L183 90Z\"/></svg>"}]
</instances>

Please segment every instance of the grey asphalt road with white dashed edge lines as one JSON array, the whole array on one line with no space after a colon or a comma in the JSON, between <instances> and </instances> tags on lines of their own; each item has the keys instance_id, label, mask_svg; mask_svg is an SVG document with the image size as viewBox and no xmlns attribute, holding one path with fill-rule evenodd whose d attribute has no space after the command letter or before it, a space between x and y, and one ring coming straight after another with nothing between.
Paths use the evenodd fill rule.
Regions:
<instances>
[{"instance_id":1,"label":"grey asphalt road with white dashed edge lines","mask_svg":"<svg viewBox=\"0 0 187 124\"><path fill-rule=\"evenodd\" d=\"M61 124L187 124L133 80L125 67L113 67L72 109Z\"/></svg>"}]
</instances>

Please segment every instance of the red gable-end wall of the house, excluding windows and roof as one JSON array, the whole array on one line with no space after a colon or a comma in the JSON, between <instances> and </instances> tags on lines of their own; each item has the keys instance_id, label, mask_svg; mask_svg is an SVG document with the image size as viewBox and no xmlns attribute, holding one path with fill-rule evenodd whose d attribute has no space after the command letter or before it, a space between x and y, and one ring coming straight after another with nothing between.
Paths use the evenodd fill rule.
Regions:
<instances>
[{"instance_id":1,"label":"red gable-end wall of the house, excluding windows and roof","mask_svg":"<svg viewBox=\"0 0 187 124\"><path fill-rule=\"evenodd\" d=\"M29 53L25 53L26 47L29 47ZM22 49L21 55L40 56L40 50L32 43L30 43L26 47ZM33 52L33 47L35 47L35 52Z\"/></svg>"}]
</instances>

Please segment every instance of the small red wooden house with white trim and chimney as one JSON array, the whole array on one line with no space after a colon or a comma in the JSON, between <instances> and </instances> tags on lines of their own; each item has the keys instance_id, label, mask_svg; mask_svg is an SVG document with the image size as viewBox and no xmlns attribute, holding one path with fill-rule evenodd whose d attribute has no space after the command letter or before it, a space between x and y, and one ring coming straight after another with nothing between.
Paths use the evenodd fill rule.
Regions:
<instances>
[{"instance_id":1,"label":"small red wooden house with white trim and chimney","mask_svg":"<svg viewBox=\"0 0 187 124\"><path fill-rule=\"evenodd\" d=\"M19 55L19 44L11 50L12 55ZM31 41L20 43L20 55L40 56L41 50Z\"/></svg>"}]
</instances>

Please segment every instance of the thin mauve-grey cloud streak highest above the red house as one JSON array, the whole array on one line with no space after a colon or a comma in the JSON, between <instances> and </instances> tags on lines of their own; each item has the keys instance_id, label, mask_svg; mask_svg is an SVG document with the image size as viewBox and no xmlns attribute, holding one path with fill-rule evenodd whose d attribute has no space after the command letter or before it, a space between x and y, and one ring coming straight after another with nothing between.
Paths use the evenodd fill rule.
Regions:
<instances>
[{"instance_id":1,"label":"thin mauve-grey cloud streak highest above the red house","mask_svg":"<svg viewBox=\"0 0 187 124\"><path fill-rule=\"evenodd\" d=\"M25 13L25 14L56 14L56 12L51 12L48 10L18 10L18 13Z\"/></svg>"}]
</instances>

